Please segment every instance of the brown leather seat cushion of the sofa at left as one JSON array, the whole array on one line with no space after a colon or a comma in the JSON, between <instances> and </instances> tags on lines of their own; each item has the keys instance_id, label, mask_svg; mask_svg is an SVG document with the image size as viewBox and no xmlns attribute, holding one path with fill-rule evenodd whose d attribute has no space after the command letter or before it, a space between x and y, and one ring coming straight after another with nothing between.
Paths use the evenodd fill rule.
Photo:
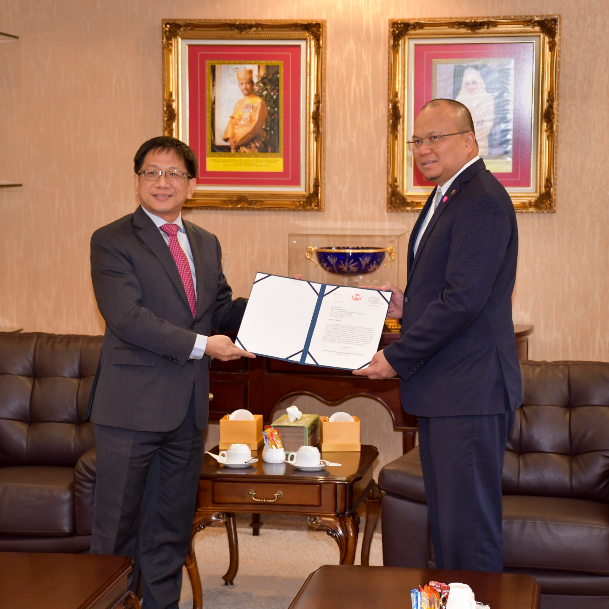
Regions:
<instances>
[{"instance_id":1,"label":"brown leather seat cushion of the sofa at left","mask_svg":"<svg viewBox=\"0 0 609 609\"><path fill-rule=\"evenodd\" d=\"M74 533L74 468L0 467L0 533Z\"/></svg>"}]
</instances>

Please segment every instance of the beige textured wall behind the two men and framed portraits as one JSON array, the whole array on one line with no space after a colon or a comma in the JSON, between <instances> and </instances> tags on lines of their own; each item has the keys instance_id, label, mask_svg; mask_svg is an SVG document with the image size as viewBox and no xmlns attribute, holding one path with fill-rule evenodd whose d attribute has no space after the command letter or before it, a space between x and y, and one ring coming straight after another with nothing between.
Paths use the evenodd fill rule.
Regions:
<instances>
[{"instance_id":1,"label":"beige textured wall behind the two men and framed portraits","mask_svg":"<svg viewBox=\"0 0 609 609\"><path fill-rule=\"evenodd\" d=\"M247 295L287 272L287 234L410 230L385 212L387 20L561 13L558 205L519 215L515 320L535 359L609 360L609 10L605 0L0 0L0 326L100 333L88 241L129 213L133 153L161 133L161 18L328 20L326 211L190 211ZM583 138L583 139L582 139Z\"/></svg>"}]
</instances>

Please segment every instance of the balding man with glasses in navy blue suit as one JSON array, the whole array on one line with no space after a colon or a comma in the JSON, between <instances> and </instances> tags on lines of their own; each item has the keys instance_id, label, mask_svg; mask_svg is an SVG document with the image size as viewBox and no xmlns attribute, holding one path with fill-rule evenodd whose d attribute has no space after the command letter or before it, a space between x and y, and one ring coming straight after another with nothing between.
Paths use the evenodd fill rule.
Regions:
<instances>
[{"instance_id":1,"label":"balding man with glasses in navy blue suit","mask_svg":"<svg viewBox=\"0 0 609 609\"><path fill-rule=\"evenodd\" d=\"M387 286L400 340L354 374L398 374L403 407L419 417L437 567L502 571L501 466L522 403L516 214L478 156L464 105L429 102L408 146L437 186L410 235L406 290Z\"/></svg>"}]
</instances>

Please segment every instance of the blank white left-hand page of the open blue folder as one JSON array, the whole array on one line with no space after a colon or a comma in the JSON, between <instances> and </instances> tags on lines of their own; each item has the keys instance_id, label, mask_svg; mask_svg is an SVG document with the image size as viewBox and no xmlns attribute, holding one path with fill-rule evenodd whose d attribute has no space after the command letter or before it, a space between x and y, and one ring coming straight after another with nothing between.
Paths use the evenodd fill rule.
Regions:
<instances>
[{"instance_id":1,"label":"blank white left-hand page of the open blue folder","mask_svg":"<svg viewBox=\"0 0 609 609\"><path fill-rule=\"evenodd\" d=\"M302 353L298 352L305 347L320 287L319 283L256 273L237 340L252 353L281 359L293 355L290 359L300 362Z\"/></svg>"}]
</instances>

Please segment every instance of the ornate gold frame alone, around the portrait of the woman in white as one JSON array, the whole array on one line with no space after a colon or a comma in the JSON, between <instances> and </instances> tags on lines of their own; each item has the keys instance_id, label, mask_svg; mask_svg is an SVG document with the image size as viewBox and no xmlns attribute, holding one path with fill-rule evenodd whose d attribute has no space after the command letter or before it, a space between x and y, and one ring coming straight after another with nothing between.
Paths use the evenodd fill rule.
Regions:
<instances>
[{"instance_id":1,"label":"ornate gold frame alone, around the portrait of the woman in white","mask_svg":"<svg viewBox=\"0 0 609 609\"><path fill-rule=\"evenodd\" d=\"M516 211L555 213L558 135L560 15L482 17L476 19L390 19L387 104L387 211L420 211L427 194L407 192L406 163L407 49L409 38L540 37L535 192L510 192Z\"/></svg>"}]
</instances>

